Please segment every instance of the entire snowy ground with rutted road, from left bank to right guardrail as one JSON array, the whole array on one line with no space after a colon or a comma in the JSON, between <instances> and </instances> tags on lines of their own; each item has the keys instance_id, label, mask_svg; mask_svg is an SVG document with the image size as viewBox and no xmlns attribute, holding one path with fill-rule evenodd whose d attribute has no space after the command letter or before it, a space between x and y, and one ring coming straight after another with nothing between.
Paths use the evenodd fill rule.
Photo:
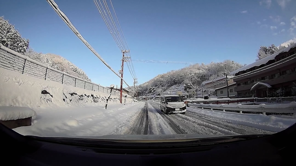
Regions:
<instances>
[{"instance_id":1,"label":"entire snowy ground with rutted road, from left bank to right guardrail","mask_svg":"<svg viewBox=\"0 0 296 166\"><path fill-rule=\"evenodd\" d=\"M239 114L187 108L186 114L165 115L159 103L36 110L32 126L15 128L24 135L102 136L110 134L272 134L296 122L295 117Z\"/></svg>"}]
</instances>

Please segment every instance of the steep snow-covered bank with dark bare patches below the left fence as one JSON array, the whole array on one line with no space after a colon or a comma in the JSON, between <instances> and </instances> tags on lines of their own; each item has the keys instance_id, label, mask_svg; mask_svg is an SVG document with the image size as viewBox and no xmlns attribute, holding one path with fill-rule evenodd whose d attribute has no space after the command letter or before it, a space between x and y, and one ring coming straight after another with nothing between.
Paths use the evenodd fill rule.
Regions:
<instances>
[{"instance_id":1,"label":"steep snow-covered bank with dark bare patches below the left fence","mask_svg":"<svg viewBox=\"0 0 296 166\"><path fill-rule=\"evenodd\" d=\"M109 94L70 87L0 68L0 106L68 107L105 103ZM127 98L127 102L132 99ZM109 104L119 103L112 95Z\"/></svg>"}]
</instances>

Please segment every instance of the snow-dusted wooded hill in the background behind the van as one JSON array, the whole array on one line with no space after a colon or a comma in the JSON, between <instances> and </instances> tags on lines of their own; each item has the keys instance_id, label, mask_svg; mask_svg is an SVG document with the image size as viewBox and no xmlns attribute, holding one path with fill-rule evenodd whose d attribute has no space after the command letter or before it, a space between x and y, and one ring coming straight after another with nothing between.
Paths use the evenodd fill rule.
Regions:
<instances>
[{"instance_id":1,"label":"snow-dusted wooded hill in the background behind the van","mask_svg":"<svg viewBox=\"0 0 296 166\"><path fill-rule=\"evenodd\" d=\"M159 74L153 79L139 85L138 95L160 95L163 92L175 93L176 91L183 90L184 84L193 84L194 86L200 86L203 81L212 80L221 77L225 68L220 66L221 64L227 64L227 72L231 72L242 68L244 65L235 61L225 60L223 62L212 62L210 64L194 64L179 70L169 71L165 74ZM177 87L178 85L181 86Z\"/></svg>"}]
</instances>

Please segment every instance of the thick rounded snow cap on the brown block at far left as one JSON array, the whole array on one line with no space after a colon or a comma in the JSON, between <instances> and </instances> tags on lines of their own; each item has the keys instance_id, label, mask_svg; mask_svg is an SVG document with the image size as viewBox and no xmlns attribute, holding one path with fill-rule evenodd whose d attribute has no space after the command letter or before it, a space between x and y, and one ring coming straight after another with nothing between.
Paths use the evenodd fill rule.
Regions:
<instances>
[{"instance_id":1,"label":"thick rounded snow cap on the brown block at far left","mask_svg":"<svg viewBox=\"0 0 296 166\"><path fill-rule=\"evenodd\" d=\"M36 118L36 112L28 107L0 107L0 121L17 120L32 117Z\"/></svg>"}]
</instances>

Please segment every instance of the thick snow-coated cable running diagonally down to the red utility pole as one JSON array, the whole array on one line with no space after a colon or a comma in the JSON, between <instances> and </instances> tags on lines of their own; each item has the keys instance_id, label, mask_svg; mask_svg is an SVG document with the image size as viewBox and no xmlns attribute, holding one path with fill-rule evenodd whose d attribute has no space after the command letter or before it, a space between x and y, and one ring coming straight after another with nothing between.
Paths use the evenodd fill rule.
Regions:
<instances>
[{"instance_id":1,"label":"thick snow-coated cable running diagonally down to the red utility pole","mask_svg":"<svg viewBox=\"0 0 296 166\"><path fill-rule=\"evenodd\" d=\"M105 64L114 74L116 74L119 78L123 79L119 76L108 64L104 61L104 59L94 50L93 47L82 37L82 35L79 33L79 31L74 27L74 25L70 22L68 17L59 9L59 6L54 2L54 0L46 0L50 6L52 6L52 9L61 17L61 19L68 25L68 27L75 33L75 35L88 47L91 52L93 52L102 62ZM128 83L123 79L123 81L126 83L126 85L131 88ZM133 88L131 88L133 89Z\"/></svg>"}]
</instances>

